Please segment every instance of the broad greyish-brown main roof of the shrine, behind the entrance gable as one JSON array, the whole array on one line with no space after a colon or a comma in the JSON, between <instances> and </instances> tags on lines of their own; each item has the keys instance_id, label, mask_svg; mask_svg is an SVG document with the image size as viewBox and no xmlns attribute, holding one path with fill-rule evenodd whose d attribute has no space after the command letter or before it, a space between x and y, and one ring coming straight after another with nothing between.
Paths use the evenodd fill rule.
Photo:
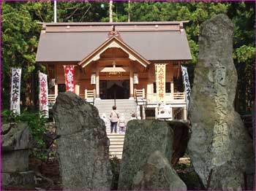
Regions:
<instances>
[{"instance_id":1,"label":"broad greyish-brown main roof of the shrine, behind the entrance gable","mask_svg":"<svg viewBox=\"0 0 256 191\"><path fill-rule=\"evenodd\" d=\"M108 39L112 26L147 61L191 60L186 22L42 23L37 62L80 62Z\"/></svg>"}]
</instances>

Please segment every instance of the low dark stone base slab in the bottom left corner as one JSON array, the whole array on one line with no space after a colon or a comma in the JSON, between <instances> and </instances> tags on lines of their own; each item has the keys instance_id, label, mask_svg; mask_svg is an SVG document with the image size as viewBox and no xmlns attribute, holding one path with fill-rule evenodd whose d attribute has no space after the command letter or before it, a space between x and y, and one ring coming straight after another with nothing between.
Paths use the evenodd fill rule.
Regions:
<instances>
[{"instance_id":1,"label":"low dark stone base slab in the bottom left corner","mask_svg":"<svg viewBox=\"0 0 256 191\"><path fill-rule=\"evenodd\" d=\"M34 184L34 171L1 173L1 186L22 186Z\"/></svg>"}]
</instances>

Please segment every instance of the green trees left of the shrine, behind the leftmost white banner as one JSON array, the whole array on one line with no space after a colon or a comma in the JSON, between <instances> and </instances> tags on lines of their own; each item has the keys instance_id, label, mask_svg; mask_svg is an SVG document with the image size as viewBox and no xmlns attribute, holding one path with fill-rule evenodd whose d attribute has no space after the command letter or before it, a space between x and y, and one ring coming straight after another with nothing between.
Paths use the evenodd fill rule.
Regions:
<instances>
[{"instance_id":1,"label":"green trees left of the shrine, behind the leftmost white banner","mask_svg":"<svg viewBox=\"0 0 256 191\"><path fill-rule=\"evenodd\" d=\"M49 6L48 4L45 4ZM37 75L35 58L39 40L40 26L37 14L42 7L40 3L3 2L1 28L1 95L2 106L9 107L10 68L22 68L21 103L31 105L34 97Z\"/></svg>"}]
</instances>

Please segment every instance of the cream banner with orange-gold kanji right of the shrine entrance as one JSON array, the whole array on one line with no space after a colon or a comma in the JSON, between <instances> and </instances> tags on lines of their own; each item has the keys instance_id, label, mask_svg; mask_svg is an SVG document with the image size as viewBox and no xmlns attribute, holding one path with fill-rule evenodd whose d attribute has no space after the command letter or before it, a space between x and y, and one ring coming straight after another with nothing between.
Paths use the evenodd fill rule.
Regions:
<instances>
[{"instance_id":1,"label":"cream banner with orange-gold kanji right of the shrine entrance","mask_svg":"<svg viewBox=\"0 0 256 191\"><path fill-rule=\"evenodd\" d=\"M165 63L156 63L157 103L165 104Z\"/></svg>"}]
</instances>

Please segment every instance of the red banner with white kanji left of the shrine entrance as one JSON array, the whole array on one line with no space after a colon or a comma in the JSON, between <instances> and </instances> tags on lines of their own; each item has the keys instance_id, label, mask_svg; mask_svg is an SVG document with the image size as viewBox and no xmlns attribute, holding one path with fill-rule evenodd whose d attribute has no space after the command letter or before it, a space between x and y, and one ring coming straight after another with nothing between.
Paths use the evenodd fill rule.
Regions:
<instances>
[{"instance_id":1,"label":"red banner with white kanji left of the shrine entrance","mask_svg":"<svg viewBox=\"0 0 256 191\"><path fill-rule=\"evenodd\" d=\"M75 66L64 66L66 91L75 93Z\"/></svg>"}]
</instances>

